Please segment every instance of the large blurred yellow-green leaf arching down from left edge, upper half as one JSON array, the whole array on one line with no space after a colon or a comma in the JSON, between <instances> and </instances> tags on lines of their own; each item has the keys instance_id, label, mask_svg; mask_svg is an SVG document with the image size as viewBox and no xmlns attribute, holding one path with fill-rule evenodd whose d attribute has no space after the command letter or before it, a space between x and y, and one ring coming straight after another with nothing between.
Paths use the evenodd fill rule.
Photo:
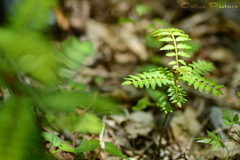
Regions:
<instances>
[{"instance_id":1,"label":"large blurred yellow-green leaf arching down from left edge, upper half","mask_svg":"<svg viewBox=\"0 0 240 160\"><path fill-rule=\"evenodd\" d=\"M48 41L39 34L0 28L0 46L7 58L2 69L27 73L46 85L56 83L59 64Z\"/></svg>"}]
</instances>

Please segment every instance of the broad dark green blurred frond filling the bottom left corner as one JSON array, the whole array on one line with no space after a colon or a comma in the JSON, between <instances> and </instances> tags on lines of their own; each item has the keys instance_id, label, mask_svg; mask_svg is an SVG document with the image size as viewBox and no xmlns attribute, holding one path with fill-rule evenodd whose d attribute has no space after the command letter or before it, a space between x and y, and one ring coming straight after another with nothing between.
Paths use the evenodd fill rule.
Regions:
<instances>
[{"instance_id":1,"label":"broad dark green blurred frond filling the bottom left corner","mask_svg":"<svg viewBox=\"0 0 240 160\"><path fill-rule=\"evenodd\" d=\"M43 159L41 134L35 124L31 101L11 97L0 107L0 159Z\"/></svg>"}]
</instances>

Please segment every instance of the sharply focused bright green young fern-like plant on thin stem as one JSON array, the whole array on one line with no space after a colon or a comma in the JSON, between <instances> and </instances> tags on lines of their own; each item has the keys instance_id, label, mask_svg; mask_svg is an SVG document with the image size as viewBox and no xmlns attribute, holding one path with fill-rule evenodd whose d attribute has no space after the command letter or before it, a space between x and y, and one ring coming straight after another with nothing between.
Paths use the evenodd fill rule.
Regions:
<instances>
[{"instance_id":1,"label":"sharply focused bright green young fern-like plant on thin stem","mask_svg":"<svg viewBox=\"0 0 240 160\"><path fill-rule=\"evenodd\" d=\"M162 85L168 86L169 88L167 92L170 97L169 101L171 101L171 103L176 103L179 107L182 107L182 103L187 101L186 92L179 84L180 81L187 82L188 85L193 85L194 89L198 89L200 92L205 89L207 94L212 90L215 97L218 94L223 95L220 88L224 85L218 85L217 81L206 79L204 77L206 74L213 71L214 67L212 63L207 63L204 60L198 60L198 62L193 61L190 64L186 64L186 62L181 59L181 57L190 57L190 55L184 50L191 49L190 46L182 43L183 41L191 40L184 31L176 28L159 29L151 32L150 35L157 36L161 42L169 43L160 48L160 50L170 50L166 56L175 57L175 60L169 62L169 65L172 66L172 68L159 67L151 69L149 72L129 75L129 78L124 78L125 81L122 85L133 84L135 87L140 88L145 86L146 89L149 89L150 87L155 89L156 86L162 87ZM164 126L164 123L169 115L168 113L173 112L173 108L163 106L160 106L160 108L165 113L165 119L162 123L162 126ZM161 133L163 133L164 127L161 128ZM159 146L161 146L161 137Z\"/></svg>"}]
</instances>

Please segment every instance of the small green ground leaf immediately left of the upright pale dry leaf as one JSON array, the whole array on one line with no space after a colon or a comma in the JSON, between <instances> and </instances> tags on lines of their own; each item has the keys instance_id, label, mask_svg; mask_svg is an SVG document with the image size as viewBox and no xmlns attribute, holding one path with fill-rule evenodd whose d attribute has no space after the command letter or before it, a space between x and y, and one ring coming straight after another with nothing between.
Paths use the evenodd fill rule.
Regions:
<instances>
[{"instance_id":1,"label":"small green ground leaf immediately left of the upright pale dry leaf","mask_svg":"<svg viewBox=\"0 0 240 160\"><path fill-rule=\"evenodd\" d=\"M98 139L91 139L87 141L83 139L82 143L74 150L76 153L90 152L96 148L100 148L100 141Z\"/></svg>"}]
</instances>

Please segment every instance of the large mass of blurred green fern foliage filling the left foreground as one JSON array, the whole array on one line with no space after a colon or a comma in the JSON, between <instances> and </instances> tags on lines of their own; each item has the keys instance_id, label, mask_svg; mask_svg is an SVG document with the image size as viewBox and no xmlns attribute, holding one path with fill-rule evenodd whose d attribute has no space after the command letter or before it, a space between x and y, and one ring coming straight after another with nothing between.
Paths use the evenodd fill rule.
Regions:
<instances>
[{"instance_id":1,"label":"large mass of blurred green fern foliage filling the left foreground","mask_svg":"<svg viewBox=\"0 0 240 160\"><path fill-rule=\"evenodd\" d=\"M102 123L97 115L120 112L113 100L83 92L72 81L85 57L94 53L93 44L72 37L58 49L43 35L56 4L19 0L0 27L0 87L10 93L0 102L1 160L53 159L43 152L37 124L98 134ZM59 89L68 81L75 90Z\"/></svg>"}]
</instances>

